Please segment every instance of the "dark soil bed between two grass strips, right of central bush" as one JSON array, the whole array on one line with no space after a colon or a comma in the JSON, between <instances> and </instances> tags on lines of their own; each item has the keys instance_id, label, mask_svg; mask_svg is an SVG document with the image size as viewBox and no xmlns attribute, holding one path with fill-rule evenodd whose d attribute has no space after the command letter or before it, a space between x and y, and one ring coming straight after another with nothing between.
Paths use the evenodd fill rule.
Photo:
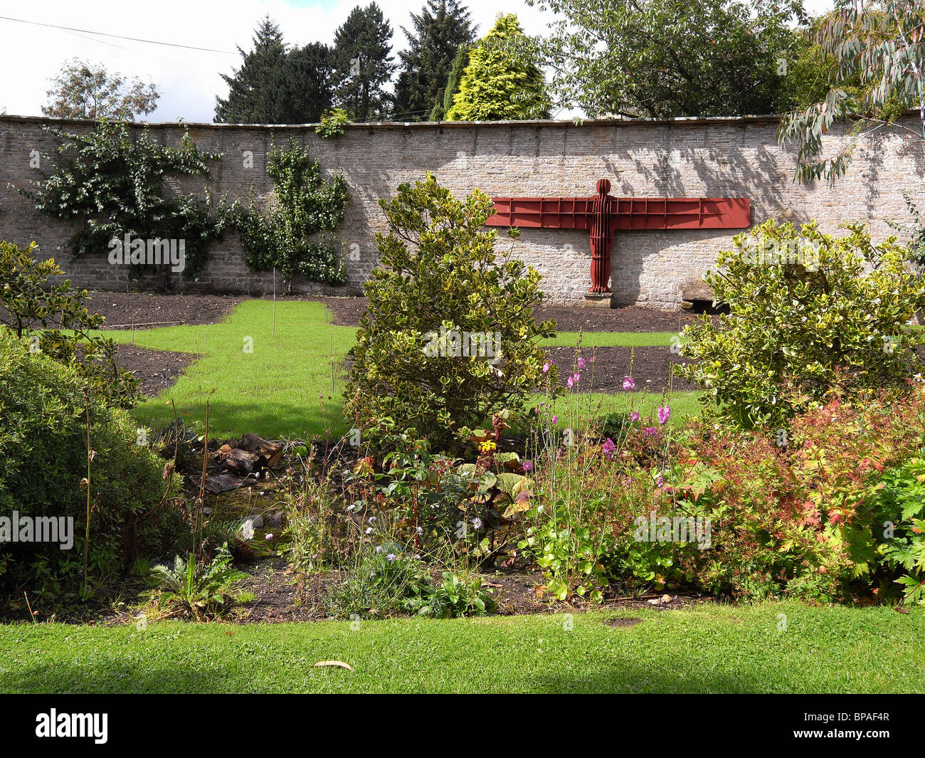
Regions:
<instances>
[{"instance_id":1,"label":"dark soil bed between two grass strips, right of central bush","mask_svg":"<svg viewBox=\"0 0 925 758\"><path fill-rule=\"evenodd\" d=\"M553 360L559 366L559 380L564 387L575 362L573 347L549 348ZM632 358L632 376L635 391L660 392L668 388L672 379L674 391L696 389L693 384L677 377L672 378L672 366L683 363L680 355L673 354L669 347L596 347L586 348L585 357L594 355L593 374L591 364L586 364L581 372L579 389L595 392L622 392L623 378L630 375Z\"/></svg>"}]
</instances>

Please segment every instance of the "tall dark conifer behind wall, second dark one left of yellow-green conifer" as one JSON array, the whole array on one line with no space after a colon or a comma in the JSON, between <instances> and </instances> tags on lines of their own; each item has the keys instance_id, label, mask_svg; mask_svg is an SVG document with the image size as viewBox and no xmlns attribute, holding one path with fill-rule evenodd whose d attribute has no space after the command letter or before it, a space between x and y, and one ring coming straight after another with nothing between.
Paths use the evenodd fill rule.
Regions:
<instances>
[{"instance_id":1,"label":"tall dark conifer behind wall, second dark one left of yellow-green conifer","mask_svg":"<svg viewBox=\"0 0 925 758\"><path fill-rule=\"evenodd\" d=\"M392 28L376 3L356 6L334 32L335 99L354 121L385 118L392 62Z\"/></svg>"}]
</instances>

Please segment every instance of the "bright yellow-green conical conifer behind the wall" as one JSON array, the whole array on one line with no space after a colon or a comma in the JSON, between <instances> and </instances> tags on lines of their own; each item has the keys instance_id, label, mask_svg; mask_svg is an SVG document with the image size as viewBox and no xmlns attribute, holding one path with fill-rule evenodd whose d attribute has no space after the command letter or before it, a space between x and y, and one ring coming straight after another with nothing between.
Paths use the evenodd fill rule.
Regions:
<instances>
[{"instance_id":1,"label":"bright yellow-green conical conifer behind the wall","mask_svg":"<svg viewBox=\"0 0 925 758\"><path fill-rule=\"evenodd\" d=\"M549 96L535 49L517 17L501 16L469 53L450 121L549 118Z\"/></svg>"}]
</instances>

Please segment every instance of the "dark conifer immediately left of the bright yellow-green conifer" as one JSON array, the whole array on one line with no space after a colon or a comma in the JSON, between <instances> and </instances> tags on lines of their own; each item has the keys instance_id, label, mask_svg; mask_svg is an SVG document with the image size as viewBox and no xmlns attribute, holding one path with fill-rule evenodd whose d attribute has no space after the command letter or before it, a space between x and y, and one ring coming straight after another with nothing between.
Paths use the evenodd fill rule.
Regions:
<instances>
[{"instance_id":1,"label":"dark conifer immediately left of the bright yellow-green conifer","mask_svg":"<svg viewBox=\"0 0 925 758\"><path fill-rule=\"evenodd\" d=\"M402 27L408 49L401 52L401 73L395 85L394 118L426 120L442 103L460 45L475 39L469 10L458 0L427 0L420 15L411 14L413 30Z\"/></svg>"}]
</instances>

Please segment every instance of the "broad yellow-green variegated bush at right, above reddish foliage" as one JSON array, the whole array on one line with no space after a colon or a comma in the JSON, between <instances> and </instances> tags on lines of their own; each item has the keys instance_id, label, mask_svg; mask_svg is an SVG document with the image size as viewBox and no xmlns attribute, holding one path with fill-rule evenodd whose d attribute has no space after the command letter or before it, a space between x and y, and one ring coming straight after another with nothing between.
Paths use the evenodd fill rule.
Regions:
<instances>
[{"instance_id":1,"label":"broad yellow-green variegated bush at right, above reddish foliage","mask_svg":"<svg viewBox=\"0 0 925 758\"><path fill-rule=\"evenodd\" d=\"M861 224L838 239L815 222L797 232L773 220L734 238L705 280L731 313L685 328L675 373L704 388L719 415L743 427L782 427L833 393L900 390L922 371L907 321L925 305L895 238L873 245ZM867 273L866 269L871 270Z\"/></svg>"}]
</instances>

